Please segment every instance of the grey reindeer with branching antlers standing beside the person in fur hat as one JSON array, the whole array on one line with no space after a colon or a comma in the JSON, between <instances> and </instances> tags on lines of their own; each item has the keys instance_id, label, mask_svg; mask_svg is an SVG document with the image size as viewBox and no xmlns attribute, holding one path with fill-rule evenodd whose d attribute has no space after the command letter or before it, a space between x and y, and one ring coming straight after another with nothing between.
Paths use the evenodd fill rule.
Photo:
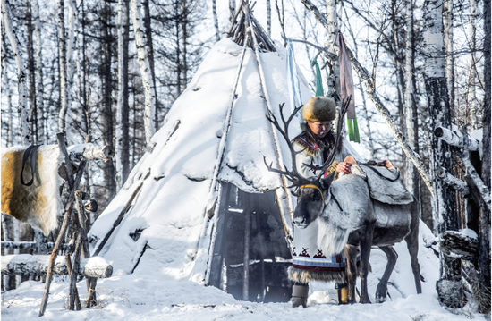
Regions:
<instances>
[{"instance_id":1,"label":"grey reindeer with branching antlers standing beside the person in fur hat","mask_svg":"<svg viewBox=\"0 0 492 321\"><path fill-rule=\"evenodd\" d=\"M337 132L342 131L344 114L349 106L351 97L344 99L340 117L338 117ZM293 213L293 224L300 228L306 228L311 222L318 219L318 246L325 255L331 256L341 253L347 258L347 278L349 303L355 303L355 281L357 277L356 256L357 249L361 250L361 262L359 275L361 276L361 303L370 303L368 295L367 276L369 272L369 256L371 246L377 246L387 257L384 275L377 284L376 300L386 300L387 283L393 272L398 255L393 248L394 243L407 242L411 256L411 269L413 272L417 293L421 293L420 266L417 259L419 251L419 212L415 199L407 205L389 205L371 199L368 183L364 178L356 174L344 175L334 181L334 174L324 177L327 168L335 160L337 148L328 157L323 165L313 165L310 168L318 171L317 176L306 178L297 171L296 155L291 139L289 139L289 124L302 106L295 108L293 114L285 121L284 104L280 105L280 114L284 129L281 128L276 116L267 114L267 119L272 122L287 142L292 156L292 171L281 171L267 165L268 170L283 174L292 182L290 188L297 188L297 207ZM335 146L339 146L340 135L337 135ZM284 166L285 167L285 166Z\"/></svg>"}]
</instances>

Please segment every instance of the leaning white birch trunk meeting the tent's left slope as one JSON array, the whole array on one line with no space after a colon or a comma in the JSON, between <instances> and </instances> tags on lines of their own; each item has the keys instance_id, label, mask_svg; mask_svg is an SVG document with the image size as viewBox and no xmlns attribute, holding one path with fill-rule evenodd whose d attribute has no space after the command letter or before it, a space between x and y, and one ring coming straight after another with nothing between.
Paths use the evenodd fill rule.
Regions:
<instances>
[{"instance_id":1,"label":"leaning white birch trunk meeting the tent's left slope","mask_svg":"<svg viewBox=\"0 0 492 321\"><path fill-rule=\"evenodd\" d=\"M145 141L148 148L153 148L151 142L152 136L156 132L154 115L156 114L156 97L154 96L154 81L150 74L150 66L148 63L147 48L143 38L142 19L140 13L140 0L131 0L131 18L133 21L133 33L135 34L135 44L137 46L137 56L139 59L140 76L143 85L145 96L144 109L144 128Z\"/></svg>"}]
</instances>

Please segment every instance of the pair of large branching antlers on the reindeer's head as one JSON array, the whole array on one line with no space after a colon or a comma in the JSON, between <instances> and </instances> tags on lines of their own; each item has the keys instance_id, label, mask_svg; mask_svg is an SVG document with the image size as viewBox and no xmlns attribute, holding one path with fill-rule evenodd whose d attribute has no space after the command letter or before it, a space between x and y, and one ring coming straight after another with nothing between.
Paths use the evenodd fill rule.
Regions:
<instances>
[{"instance_id":1,"label":"pair of large branching antlers on the reindeer's head","mask_svg":"<svg viewBox=\"0 0 492 321\"><path fill-rule=\"evenodd\" d=\"M268 114L266 115L267 120L269 122L271 122L276 127L276 129L282 134L282 136L284 137L285 141L287 142L287 146L289 147L289 150L291 152L291 157L292 157L292 161L293 161L293 170L292 171L289 171L288 169L286 169L287 167L285 165L284 165L285 171L282 171L280 169L273 168L272 163L270 165L268 165L267 159L265 157L263 157L263 161L265 162L265 165L267 165L268 171L274 172L274 173L280 173L280 174L284 175L289 181L293 182L293 185L290 187L301 186L302 184L305 184L305 183L318 182L319 179L321 179L321 177L323 176L323 174L327 171L327 168L333 164L333 162L335 161L335 156L338 154L337 147L340 144L340 139L342 137L340 132L342 131L342 127L344 124L344 114L347 112L347 109L348 109L348 106L349 106L351 99L352 99L352 96L346 97L344 99L344 102L342 103L342 108L340 109L340 116L338 118L338 123L336 124L336 132L338 134L336 135L336 139L335 139L335 148L334 148L334 151L328 157L327 161L323 165L320 165L320 166L313 165L312 161L311 161L311 164L304 164L304 165L310 167L311 169L321 170L321 172L318 174L318 176L314 179L306 178L306 177L302 176L301 173L297 172L297 164L296 164L295 157L297 156L297 154L300 154L301 152L303 152L305 150L305 148L302 149L301 151L296 152L293 148L293 143L292 143L291 139L289 138L289 125L292 122L295 114L297 114L297 112L299 112L301 110L302 106L294 108L293 113L285 121L285 118L284 118L284 105L285 105L285 103L279 105L280 116L282 118L282 123L283 123L284 128L282 128L280 126L280 123L276 119L275 114L268 111Z\"/></svg>"}]
</instances>

